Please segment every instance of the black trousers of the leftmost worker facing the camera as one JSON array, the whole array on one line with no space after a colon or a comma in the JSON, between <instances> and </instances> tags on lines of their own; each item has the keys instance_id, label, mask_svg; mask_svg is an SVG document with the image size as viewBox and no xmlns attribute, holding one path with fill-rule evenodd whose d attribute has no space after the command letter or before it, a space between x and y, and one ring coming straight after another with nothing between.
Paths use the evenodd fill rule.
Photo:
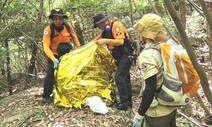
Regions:
<instances>
[{"instance_id":1,"label":"black trousers of the leftmost worker facing the camera","mask_svg":"<svg viewBox=\"0 0 212 127\"><path fill-rule=\"evenodd\" d=\"M55 58L59 59L58 56L55 56ZM44 80L44 86L43 86L43 97L50 96L52 94L53 88L54 88L54 63L51 59L48 58L48 68L46 72L46 77Z\"/></svg>"}]
</instances>

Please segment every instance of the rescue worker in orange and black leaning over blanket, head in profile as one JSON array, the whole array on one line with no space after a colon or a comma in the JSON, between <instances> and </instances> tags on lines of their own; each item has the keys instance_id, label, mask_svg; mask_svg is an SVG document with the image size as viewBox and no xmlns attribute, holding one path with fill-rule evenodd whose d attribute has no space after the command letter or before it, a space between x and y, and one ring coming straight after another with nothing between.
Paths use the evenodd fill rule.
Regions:
<instances>
[{"instance_id":1,"label":"rescue worker in orange and black leaning over blanket, head in profile","mask_svg":"<svg viewBox=\"0 0 212 127\"><path fill-rule=\"evenodd\" d=\"M119 91L120 102L116 104L119 110L132 108L132 89L130 81L130 67L132 61L128 58L129 54L124 53L122 48L124 40L129 35L121 22L113 22L109 16L99 13L93 17L94 28L102 30L93 42L97 45L106 44L116 60L117 70L115 73L115 83Z\"/></svg>"}]
</instances>

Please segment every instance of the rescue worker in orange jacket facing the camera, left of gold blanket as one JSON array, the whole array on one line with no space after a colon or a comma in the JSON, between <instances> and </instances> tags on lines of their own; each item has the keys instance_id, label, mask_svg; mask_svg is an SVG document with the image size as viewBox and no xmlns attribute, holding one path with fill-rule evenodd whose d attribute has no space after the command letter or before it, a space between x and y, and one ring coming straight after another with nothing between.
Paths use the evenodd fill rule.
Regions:
<instances>
[{"instance_id":1,"label":"rescue worker in orange jacket facing the camera, left of gold blanket","mask_svg":"<svg viewBox=\"0 0 212 127\"><path fill-rule=\"evenodd\" d=\"M54 84L54 69L57 68L59 63L58 56L58 46L59 44L70 44L70 38L73 39L73 42L76 47L80 46L78 38L72 28L72 26L66 22L64 19L67 19L68 16L65 15L60 8L51 10L49 19L51 19L51 26L48 25L44 29L43 33L43 48L45 54L48 56L48 70L44 81L44 91L43 91L43 102L50 102L52 97L50 95L53 91ZM69 25L70 33L68 28L65 27L65 23ZM54 35L51 36L51 27L53 27Z\"/></svg>"}]
</instances>

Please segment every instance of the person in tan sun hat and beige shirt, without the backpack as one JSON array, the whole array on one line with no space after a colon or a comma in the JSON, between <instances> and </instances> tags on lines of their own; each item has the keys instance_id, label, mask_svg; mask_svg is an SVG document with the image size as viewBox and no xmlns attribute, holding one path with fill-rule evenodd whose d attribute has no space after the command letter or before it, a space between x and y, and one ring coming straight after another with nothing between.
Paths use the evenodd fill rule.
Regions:
<instances>
[{"instance_id":1,"label":"person in tan sun hat and beige shirt, without the backpack","mask_svg":"<svg viewBox=\"0 0 212 127\"><path fill-rule=\"evenodd\" d=\"M166 40L162 26L163 21L160 16L146 14L134 25L134 28L147 48ZM160 72L162 67L160 52L153 48L147 50L145 48L138 57L145 89L133 124L135 127L143 126L143 122L146 127L176 127L177 107L160 105L154 98L163 82Z\"/></svg>"}]
</instances>

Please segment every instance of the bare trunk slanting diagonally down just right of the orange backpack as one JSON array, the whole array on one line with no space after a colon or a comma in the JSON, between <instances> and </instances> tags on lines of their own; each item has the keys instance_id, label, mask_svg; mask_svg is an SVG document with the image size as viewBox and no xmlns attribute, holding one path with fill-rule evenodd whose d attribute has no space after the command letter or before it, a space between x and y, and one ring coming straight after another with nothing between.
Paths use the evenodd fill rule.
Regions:
<instances>
[{"instance_id":1,"label":"bare trunk slanting diagonally down just right of the orange backpack","mask_svg":"<svg viewBox=\"0 0 212 127\"><path fill-rule=\"evenodd\" d=\"M183 25L180 21L180 18L177 14L177 12L174 10L174 7L171 3L170 0L164 0L164 3L168 9L169 14L171 15L173 21L175 22L175 25L177 27L177 30L182 38L182 42L188 52L189 58L191 59L191 62L193 63L200 79L201 79L201 85L203 88L203 91L205 93L206 98L208 99L208 101L212 104L212 94L209 88L209 83L208 83L208 79L207 76L205 74L205 72L203 71L202 67L199 65L199 63L197 62L197 58L194 54L194 51L191 47L191 44L189 42L188 36L185 32L185 29L183 28Z\"/></svg>"}]
</instances>

